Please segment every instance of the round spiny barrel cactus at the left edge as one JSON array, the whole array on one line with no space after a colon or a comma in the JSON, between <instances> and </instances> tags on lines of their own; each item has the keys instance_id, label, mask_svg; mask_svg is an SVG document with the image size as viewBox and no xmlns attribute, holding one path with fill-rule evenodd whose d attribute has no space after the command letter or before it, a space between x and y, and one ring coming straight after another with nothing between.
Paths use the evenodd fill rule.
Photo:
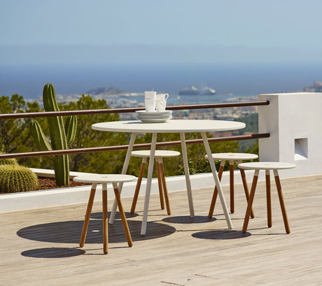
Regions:
<instances>
[{"instance_id":1,"label":"round spiny barrel cactus at the left edge","mask_svg":"<svg viewBox=\"0 0 322 286\"><path fill-rule=\"evenodd\" d=\"M36 174L25 166L0 166L0 192L29 192L38 189Z\"/></svg>"}]
</instances>

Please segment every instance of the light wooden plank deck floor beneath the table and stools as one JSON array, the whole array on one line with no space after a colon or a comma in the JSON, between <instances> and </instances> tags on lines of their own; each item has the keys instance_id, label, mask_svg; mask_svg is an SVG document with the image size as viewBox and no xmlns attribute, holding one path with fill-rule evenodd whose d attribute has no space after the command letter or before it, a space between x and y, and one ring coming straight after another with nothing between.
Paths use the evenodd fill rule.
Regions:
<instances>
[{"instance_id":1,"label":"light wooden plank deck floor beneath the table and stools","mask_svg":"<svg viewBox=\"0 0 322 286\"><path fill-rule=\"evenodd\" d=\"M290 234L285 233L272 181L273 226L266 227L265 183L255 194L255 218L241 233L246 203L236 186L234 229L220 203L207 217L211 189L193 192L195 218L185 192L170 193L172 215L151 196L148 229L140 235L143 197L127 219L109 225L102 252L101 205L94 204L85 247L79 248L85 204L43 208L0 217L0 285L322 285L322 176L281 180ZM228 187L224 187L226 199ZM130 199L123 199L130 210ZM111 207L111 203L109 204Z\"/></svg>"}]
</instances>

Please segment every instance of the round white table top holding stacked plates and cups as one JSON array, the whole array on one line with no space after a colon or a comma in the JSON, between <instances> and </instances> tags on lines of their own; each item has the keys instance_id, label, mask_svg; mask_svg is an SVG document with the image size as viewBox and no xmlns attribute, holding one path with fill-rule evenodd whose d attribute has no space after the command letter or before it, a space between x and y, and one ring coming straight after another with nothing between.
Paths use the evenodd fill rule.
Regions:
<instances>
[{"instance_id":1,"label":"round white table top holding stacked plates and cups","mask_svg":"<svg viewBox=\"0 0 322 286\"><path fill-rule=\"evenodd\" d=\"M246 127L243 122L228 120L169 120L162 123L144 123L139 120L111 121L92 124L99 131L136 132L136 133L176 133L228 131Z\"/></svg>"}]
</instances>

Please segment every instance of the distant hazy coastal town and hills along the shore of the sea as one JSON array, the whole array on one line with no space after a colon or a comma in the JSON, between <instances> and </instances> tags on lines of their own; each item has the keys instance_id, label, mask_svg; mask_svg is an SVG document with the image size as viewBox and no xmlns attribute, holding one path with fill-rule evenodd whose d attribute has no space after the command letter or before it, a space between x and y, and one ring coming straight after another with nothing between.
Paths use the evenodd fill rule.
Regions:
<instances>
[{"instance_id":1,"label":"distant hazy coastal town and hills along the shore of the sea","mask_svg":"<svg viewBox=\"0 0 322 286\"><path fill-rule=\"evenodd\" d=\"M322 92L322 82L314 81L313 85L308 85L298 92ZM211 87L204 87L198 90L197 87L190 86L177 92L178 94L170 94L167 105L189 105L221 102L241 102L256 101L258 95L236 96L234 94L217 94L216 90ZM131 108L144 107L144 92L126 92L115 87L99 87L84 92L89 94L93 99L104 99L111 108ZM82 94L57 94L57 101L69 102L77 101ZM37 99L42 105L42 98ZM174 110L174 118L185 119L225 119L235 120L241 117L247 117L257 113L257 106L231 107L231 108L207 108L195 110ZM120 113L120 120L134 120L134 113Z\"/></svg>"}]
</instances>

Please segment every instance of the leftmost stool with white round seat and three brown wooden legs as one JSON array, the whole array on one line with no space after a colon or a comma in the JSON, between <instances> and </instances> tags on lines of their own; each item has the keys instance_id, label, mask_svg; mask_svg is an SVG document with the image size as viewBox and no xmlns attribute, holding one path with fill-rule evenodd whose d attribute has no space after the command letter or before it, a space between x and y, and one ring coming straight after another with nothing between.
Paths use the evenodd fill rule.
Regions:
<instances>
[{"instance_id":1,"label":"leftmost stool with white round seat and three brown wooden legs","mask_svg":"<svg viewBox=\"0 0 322 286\"><path fill-rule=\"evenodd\" d=\"M81 175L73 178L75 182L81 183L92 183L92 188L90 190L90 199L88 199L87 210L85 215L85 220L83 224L82 234L80 236L79 246L83 248L85 244L85 238L87 234L88 224L90 223L90 213L92 212L92 206L94 201L94 195L96 192L97 184L102 184L102 196L103 196L103 251L104 254L107 254L109 249L109 238L108 238L108 222L107 222L107 184L112 183L114 193L116 196L116 201L118 203L118 210L120 211L120 217L122 219L123 228L125 231L125 236L127 238L127 244L132 247L132 237L130 234L130 229L127 225L127 220L125 217L124 209L122 202L120 200L120 192L118 190L118 183L130 182L136 180L137 177L130 175L121 175L121 174L88 174Z\"/></svg>"}]
</instances>

